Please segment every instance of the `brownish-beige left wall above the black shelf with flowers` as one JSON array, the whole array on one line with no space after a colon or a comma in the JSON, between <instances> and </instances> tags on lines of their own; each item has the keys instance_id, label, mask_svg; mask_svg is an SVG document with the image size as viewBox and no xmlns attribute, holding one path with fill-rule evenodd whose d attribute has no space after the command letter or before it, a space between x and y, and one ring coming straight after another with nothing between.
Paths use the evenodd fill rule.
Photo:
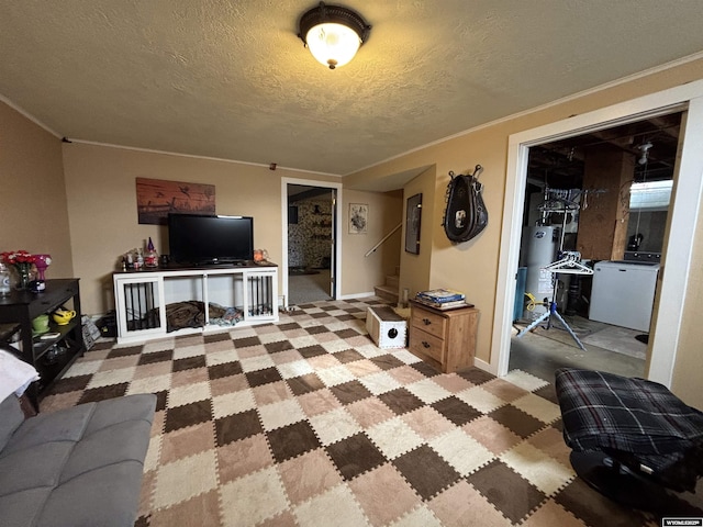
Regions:
<instances>
[{"instance_id":1,"label":"brownish-beige left wall above the black shelf with flowers","mask_svg":"<svg viewBox=\"0 0 703 527\"><path fill-rule=\"evenodd\" d=\"M62 142L3 102L0 220L0 251L49 254L47 279L74 277Z\"/></svg>"}]
</instances>

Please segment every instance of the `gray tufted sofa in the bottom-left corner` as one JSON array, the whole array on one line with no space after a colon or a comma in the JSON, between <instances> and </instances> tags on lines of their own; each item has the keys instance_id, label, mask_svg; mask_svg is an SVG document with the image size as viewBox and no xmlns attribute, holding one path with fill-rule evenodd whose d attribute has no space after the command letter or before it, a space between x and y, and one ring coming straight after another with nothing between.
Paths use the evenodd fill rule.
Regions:
<instances>
[{"instance_id":1,"label":"gray tufted sofa in the bottom-left corner","mask_svg":"<svg viewBox=\"0 0 703 527\"><path fill-rule=\"evenodd\" d=\"M87 403L25 418L0 403L0 525L134 525L154 394Z\"/></svg>"}]
</instances>

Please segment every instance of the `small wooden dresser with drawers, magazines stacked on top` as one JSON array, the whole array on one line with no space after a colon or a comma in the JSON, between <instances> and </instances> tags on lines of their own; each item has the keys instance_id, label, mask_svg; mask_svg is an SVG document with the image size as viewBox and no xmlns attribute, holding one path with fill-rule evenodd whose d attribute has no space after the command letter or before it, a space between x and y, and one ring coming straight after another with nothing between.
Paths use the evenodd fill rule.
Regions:
<instances>
[{"instance_id":1,"label":"small wooden dresser with drawers, magazines stacked on top","mask_svg":"<svg viewBox=\"0 0 703 527\"><path fill-rule=\"evenodd\" d=\"M479 310L439 311L410 301L410 351L440 369L453 372L473 366Z\"/></svg>"}]
</instances>

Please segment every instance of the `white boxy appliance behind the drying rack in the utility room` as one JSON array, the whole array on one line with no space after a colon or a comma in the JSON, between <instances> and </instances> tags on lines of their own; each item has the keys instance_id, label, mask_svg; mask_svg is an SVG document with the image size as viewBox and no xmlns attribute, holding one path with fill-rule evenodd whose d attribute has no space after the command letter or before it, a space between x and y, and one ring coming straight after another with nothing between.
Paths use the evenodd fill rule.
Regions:
<instances>
[{"instance_id":1,"label":"white boxy appliance behind the drying rack in the utility room","mask_svg":"<svg viewBox=\"0 0 703 527\"><path fill-rule=\"evenodd\" d=\"M659 264L599 261L593 266L589 318L649 333Z\"/></svg>"}]
</instances>

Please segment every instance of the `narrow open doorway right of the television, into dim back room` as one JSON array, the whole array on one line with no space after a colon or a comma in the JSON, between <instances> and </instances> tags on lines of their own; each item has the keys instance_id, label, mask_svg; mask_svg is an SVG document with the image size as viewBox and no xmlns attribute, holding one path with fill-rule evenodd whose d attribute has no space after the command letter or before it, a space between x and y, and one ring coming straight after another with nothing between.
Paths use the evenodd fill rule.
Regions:
<instances>
[{"instance_id":1,"label":"narrow open doorway right of the television, into dim back room","mask_svg":"<svg viewBox=\"0 0 703 527\"><path fill-rule=\"evenodd\" d=\"M288 304L334 298L334 188L288 184Z\"/></svg>"}]
</instances>

